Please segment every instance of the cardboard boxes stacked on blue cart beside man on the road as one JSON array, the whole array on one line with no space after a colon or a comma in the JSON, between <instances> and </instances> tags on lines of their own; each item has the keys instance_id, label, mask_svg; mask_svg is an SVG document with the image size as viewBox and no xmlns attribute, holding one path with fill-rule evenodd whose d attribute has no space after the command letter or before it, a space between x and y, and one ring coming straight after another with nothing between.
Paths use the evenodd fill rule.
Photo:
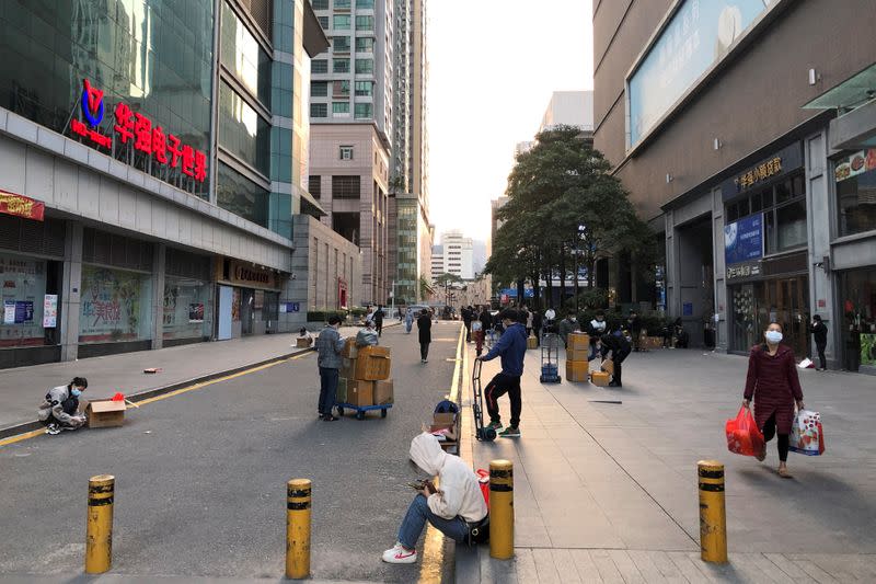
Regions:
<instances>
[{"instance_id":1,"label":"cardboard boxes stacked on blue cart beside man on the road","mask_svg":"<svg viewBox=\"0 0 876 584\"><path fill-rule=\"evenodd\" d=\"M390 350L384 346L357 347L354 339L344 345L344 364L337 382L337 402L357 408L393 403L390 379Z\"/></svg>"}]
</instances>

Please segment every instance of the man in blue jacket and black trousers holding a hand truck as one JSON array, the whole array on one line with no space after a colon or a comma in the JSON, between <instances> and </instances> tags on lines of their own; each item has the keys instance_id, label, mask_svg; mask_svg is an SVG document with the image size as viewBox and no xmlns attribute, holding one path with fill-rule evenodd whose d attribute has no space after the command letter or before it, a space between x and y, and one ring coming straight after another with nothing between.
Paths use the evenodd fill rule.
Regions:
<instances>
[{"instance_id":1,"label":"man in blue jacket and black trousers holding a hand truck","mask_svg":"<svg viewBox=\"0 0 876 584\"><path fill-rule=\"evenodd\" d=\"M520 436L520 412L522 401L520 399L520 377L523 375L523 357L527 353L527 330L523 324L516 322L518 312L514 309L505 309L499 314L505 332L495 346L479 360L492 360L502 357L502 371L487 383L484 389L486 398L486 410L489 413L488 427L494 428L499 436L516 438ZM511 402L511 421L504 432L502 430L502 415L499 414L498 399L508 393Z\"/></svg>"}]
</instances>

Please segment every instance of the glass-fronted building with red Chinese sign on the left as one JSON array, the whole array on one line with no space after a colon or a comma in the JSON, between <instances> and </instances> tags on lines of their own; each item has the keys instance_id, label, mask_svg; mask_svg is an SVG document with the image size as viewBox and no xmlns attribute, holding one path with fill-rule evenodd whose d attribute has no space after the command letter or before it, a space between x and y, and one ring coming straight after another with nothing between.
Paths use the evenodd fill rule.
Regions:
<instances>
[{"instance_id":1,"label":"glass-fronted building with red Chinese sign on the left","mask_svg":"<svg viewBox=\"0 0 876 584\"><path fill-rule=\"evenodd\" d=\"M356 271L291 239L326 45L306 0L4 4L0 367L291 330L313 240Z\"/></svg>"}]
</instances>

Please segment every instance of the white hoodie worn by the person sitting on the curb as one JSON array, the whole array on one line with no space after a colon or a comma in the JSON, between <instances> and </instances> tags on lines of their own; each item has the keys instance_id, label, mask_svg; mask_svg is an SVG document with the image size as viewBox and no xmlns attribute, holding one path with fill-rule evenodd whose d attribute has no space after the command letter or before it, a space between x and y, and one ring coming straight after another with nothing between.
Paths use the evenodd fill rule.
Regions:
<instances>
[{"instance_id":1,"label":"white hoodie worn by the person sitting on the curb","mask_svg":"<svg viewBox=\"0 0 876 584\"><path fill-rule=\"evenodd\" d=\"M438 476L438 492L429 495L433 513L445 519L460 515L469 523L486 516L486 503L477 477L458 456L441 449L438 438L423 433L411 440L411 460L431 476Z\"/></svg>"}]
</instances>

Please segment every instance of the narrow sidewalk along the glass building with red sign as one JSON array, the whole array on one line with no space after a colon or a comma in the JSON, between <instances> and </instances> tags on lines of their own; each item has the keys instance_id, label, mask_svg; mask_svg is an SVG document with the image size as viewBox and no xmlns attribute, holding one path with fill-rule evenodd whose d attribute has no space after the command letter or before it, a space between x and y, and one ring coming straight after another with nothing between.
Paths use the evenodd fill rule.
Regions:
<instances>
[{"instance_id":1,"label":"narrow sidewalk along the glass building with red sign","mask_svg":"<svg viewBox=\"0 0 876 584\"><path fill-rule=\"evenodd\" d=\"M390 322L387 327L395 327ZM384 327L385 328L385 327ZM355 335L358 328L341 329L342 336ZM89 380L85 398L105 398L120 391L126 397L175 387L184 387L301 353L295 348L297 333L265 334L231 341L139 351L77 362L50 363L0 370L0 438L32 430L36 408L48 389L67 383L76 376ZM315 336L315 334L314 334ZM157 367L158 374L143 374ZM169 389L170 390L170 389Z\"/></svg>"}]
</instances>

